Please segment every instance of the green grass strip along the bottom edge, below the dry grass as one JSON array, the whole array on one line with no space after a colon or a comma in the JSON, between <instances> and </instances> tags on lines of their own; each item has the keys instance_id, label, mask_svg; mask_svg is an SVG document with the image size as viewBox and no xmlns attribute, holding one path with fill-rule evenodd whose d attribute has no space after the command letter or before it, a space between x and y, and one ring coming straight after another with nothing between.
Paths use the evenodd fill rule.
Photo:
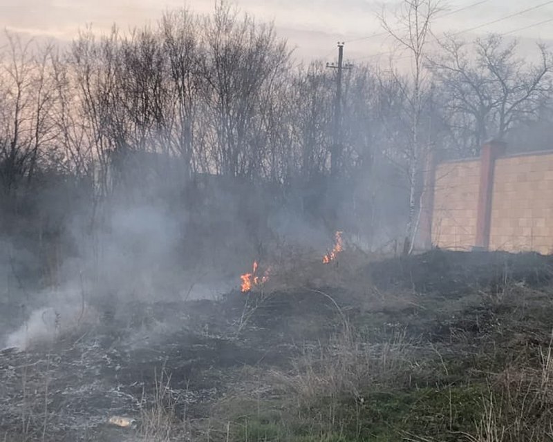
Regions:
<instances>
[{"instance_id":1,"label":"green grass strip along the bottom edge, below the dry grass","mask_svg":"<svg viewBox=\"0 0 553 442\"><path fill-rule=\"evenodd\" d=\"M471 432L482 413L485 385L371 392L364 398L321 398L310 407L257 411L234 421L240 442L385 442L403 436L456 441ZM263 410L263 411L261 411Z\"/></svg>"}]
</instances>

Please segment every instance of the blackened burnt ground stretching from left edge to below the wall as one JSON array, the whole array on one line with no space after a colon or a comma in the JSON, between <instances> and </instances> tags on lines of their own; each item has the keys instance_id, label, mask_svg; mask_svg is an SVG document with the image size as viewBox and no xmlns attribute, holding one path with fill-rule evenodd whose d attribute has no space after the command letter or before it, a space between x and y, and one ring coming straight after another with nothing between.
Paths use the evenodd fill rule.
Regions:
<instances>
[{"instance_id":1,"label":"blackened burnt ground stretching from left edge to below the wall","mask_svg":"<svg viewBox=\"0 0 553 442\"><path fill-rule=\"evenodd\" d=\"M306 346L324 345L345 322L374 345L401 330L421 355L439 349L438 363L409 373L409 383L418 387L438 377L452 385L467 372L478 381L521 352L533 354L550 343L551 257L432 251L364 259L355 258L355 270L346 258L340 267L321 267L334 275L324 285L302 282L246 296L236 291L213 301L135 302L104 312L97 323L53 345L4 350L0 434L13 440L135 440L162 376L170 376L176 415L207 419L247 381L248 368L290 372ZM138 428L109 425L114 415L137 419Z\"/></svg>"}]
</instances>

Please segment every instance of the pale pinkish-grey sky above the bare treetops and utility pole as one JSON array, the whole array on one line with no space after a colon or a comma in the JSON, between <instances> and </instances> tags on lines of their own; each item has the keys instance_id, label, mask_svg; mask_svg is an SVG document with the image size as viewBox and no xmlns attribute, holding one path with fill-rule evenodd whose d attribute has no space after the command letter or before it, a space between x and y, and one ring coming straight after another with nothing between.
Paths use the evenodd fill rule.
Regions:
<instances>
[{"instance_id":1,"label":"pale pinkish-grey sky above the bare treetops and utility pole","mask_svg":"<svg viewBox=\"0 0 553 442\"><path fill-rule=\"evenodd\" d=\"M299 60L336 57L337 42L345 41L346 59L387 59L393 46L382 32L377 14L391 15L401 0L236 0L238 8L263 21L274 21L279 36L288 40ZM544 4L546 3L546 4ZM187 6L207 13L214 0L0 0L0 27L37 39L71 41L79 28L92 25L99 32L118 23L122 30L155 23L165 10ZM553 45L553 1L546 0L450 0L433 23L433 32L461 32L467 39L489 32L517 37L521 47L535 41ZM543 6L542 6L543 5ZM523 10L536 7L518 14ZM458 11L461 8L464 10ZM508 15L508 19L490 23ZM549 23L538 23L552 19ZM490 24L487 24L490 23ZM368 38L367 38L368 37ZM5 37L0 37L0 44Z\"/></svg>"}]
</instances>

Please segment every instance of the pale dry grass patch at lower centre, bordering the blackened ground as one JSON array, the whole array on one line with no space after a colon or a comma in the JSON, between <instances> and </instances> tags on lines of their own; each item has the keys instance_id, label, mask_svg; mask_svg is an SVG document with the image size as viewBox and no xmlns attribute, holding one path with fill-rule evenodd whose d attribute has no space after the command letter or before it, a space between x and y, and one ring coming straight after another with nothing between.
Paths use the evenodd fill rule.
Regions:
<instances>
[{"instance_id":1,"label":"pale dry grass patch at lower centre, bordering the blackened ground","mask_svg":"<svg viewBox=\"0 0 553 442\"><path fill-rule=\"evenodd\" d=\"M242 381L218 401L201 440L346 441L335 430L351 425L348 404L361 433L365 395L414 369L412 344L404 332L388 343L369 345L349 324L329 343L304 346L288 371L244 368ZM346 422L347 421L347 422ZM294 428L308 439L298 439ZM311 439L312 438L312 439Z\"/></svg>"}]
</instances>

